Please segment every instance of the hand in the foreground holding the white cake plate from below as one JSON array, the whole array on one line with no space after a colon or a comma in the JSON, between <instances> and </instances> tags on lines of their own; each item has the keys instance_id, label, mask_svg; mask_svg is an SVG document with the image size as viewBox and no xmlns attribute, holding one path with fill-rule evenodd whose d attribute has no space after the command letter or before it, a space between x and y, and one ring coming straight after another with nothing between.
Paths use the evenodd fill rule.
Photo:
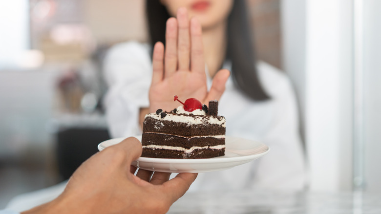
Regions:
<instances>
[{"instance_id":1,"label":"hand in the foreground holding the white cake plate from below","mask_svg":"<svg viewBox=\"0 0 381 214\"><path fill-rule=\"evenodd\" d=\"M22 214L164 214L196 179L197 174L139 170L131 162L142 146L133 137L86 160L74 172L64 192L55 200ZM151 177L152 176L152 177Z\"/></svg>"}]
</instances>

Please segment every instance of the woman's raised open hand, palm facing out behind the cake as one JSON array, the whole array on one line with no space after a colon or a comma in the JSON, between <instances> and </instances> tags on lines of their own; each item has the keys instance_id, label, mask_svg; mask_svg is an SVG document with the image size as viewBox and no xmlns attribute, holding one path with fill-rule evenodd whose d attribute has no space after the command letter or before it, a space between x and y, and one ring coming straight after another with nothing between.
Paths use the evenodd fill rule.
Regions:
<instances>
[{"instance_id":1,"label":"woman's raised open hand, palm facing out behind the cake","mask_svg":"<svg viewBox=\"0 0 381 214\"><path fill-rule=\"evenodd\" d=\"M150 112L177 107L178 103L173 102L174 95L183 100L196 98L201 103L218 100L230 75L229 70L218 71L208 91L201 25L196 18L189 21L186 8L178 9L177 19L168 19L166 47L161 42L155 44L152 67Z\"/></svg>"}]
</instances>

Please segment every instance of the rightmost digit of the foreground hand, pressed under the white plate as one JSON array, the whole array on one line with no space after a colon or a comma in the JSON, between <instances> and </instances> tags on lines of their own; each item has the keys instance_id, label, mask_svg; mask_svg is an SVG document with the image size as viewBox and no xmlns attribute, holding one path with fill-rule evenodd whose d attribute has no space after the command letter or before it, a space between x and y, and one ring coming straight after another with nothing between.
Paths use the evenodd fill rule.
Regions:
<instances>
[{"instance_id":1,"label":"rightmost digit of the foreground hand, pressed under the white plate","mask_svg":"<svg viewBox=\"0 0 381 214\"><path fill-rule=\"evenodd\" d=\"M176 177L165 182L163 187L164 195L168 197L170 203L175 202L187 192L197 173L179 173Z\"/></svg>"}]
</instances>

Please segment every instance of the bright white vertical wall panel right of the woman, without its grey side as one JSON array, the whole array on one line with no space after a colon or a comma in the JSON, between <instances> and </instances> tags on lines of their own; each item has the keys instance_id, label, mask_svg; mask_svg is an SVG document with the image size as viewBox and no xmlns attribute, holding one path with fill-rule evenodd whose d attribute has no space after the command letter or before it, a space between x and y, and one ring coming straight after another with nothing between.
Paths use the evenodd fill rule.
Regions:
<instances>
[{"instance_id":1,"label":"bright white vertical wall panel right of the woman, without its grey side","mask_svg":"<svg viewBox=\"0 0 381 214\"><path fill-rule=\"evenodd\" d=\"M306 142L313 190L352 186L352 8L307 1Z\"/></svg>"}]
</instances>

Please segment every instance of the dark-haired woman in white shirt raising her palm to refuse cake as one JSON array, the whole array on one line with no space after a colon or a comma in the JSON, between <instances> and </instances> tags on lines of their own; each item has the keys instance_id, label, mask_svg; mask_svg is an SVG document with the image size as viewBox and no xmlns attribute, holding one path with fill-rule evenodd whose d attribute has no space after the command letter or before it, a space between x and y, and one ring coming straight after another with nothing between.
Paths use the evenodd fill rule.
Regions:
<instances>
[{"instance_id":1,"label":"dark-haired woman in white shirt raising her palm to refuse cake","mask_svg":"<svg viewBox=\"0 0 381 214\"><path fill-rule=\"evenodd\" d=\"M201 173L191 189L302 189L295 95L283 73L255 61L245 1L146 3L151 44L119 44L106 57L111 135L141 134L143 116L177 107L175 94L203 103L218 99L228 136L261 141L271 151L231 170Z\"/></svg>"}]
</instances>

